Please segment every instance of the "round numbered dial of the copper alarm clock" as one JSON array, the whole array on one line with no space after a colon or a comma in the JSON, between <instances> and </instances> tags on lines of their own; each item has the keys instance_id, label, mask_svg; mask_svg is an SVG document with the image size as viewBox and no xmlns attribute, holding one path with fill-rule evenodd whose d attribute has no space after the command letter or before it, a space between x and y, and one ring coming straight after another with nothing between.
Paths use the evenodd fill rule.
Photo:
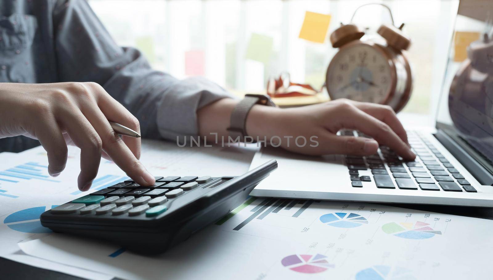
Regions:
<instances>
[{"instance_id":1,"label":"round numbered dial of the copper alarm clock","mask_svg":"<svg viewBox=\"0 0 493 280\"><path fill-rule=\"evenodd\" d=\"M342 48L332 59L327 73L327 90L332 99L383 103L392 87L392 69L376 46L358 43Z\"/></svg>"}]
</instances>

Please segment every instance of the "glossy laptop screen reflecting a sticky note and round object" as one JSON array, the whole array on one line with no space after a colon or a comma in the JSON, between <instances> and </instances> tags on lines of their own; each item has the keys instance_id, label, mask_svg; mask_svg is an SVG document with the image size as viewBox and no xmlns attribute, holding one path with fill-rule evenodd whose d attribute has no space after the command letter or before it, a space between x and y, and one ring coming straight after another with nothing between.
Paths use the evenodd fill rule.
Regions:
<instances>
[{"instance_id":1,"label":"glossy laptop screen reflecting a sticky note and round object","mask_svg":"<svg viewBox=\"0 0 493 280\"><path fill-rule=\"evenodd\" d=\"M493 1L461 0L437 113L446 128L493 161Z\"/></svg>"}]
</instances>

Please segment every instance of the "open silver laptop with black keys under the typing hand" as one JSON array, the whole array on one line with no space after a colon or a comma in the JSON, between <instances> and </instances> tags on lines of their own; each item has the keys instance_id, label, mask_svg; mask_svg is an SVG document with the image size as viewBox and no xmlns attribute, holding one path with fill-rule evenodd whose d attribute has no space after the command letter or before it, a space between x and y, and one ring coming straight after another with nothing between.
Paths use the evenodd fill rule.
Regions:
<instances>
[{"instance_id":1,"label":"open silver laptop with black keys under the typing hand","mask_svg":"<svg viewBox=\"0 0 493 280\"><path fill-rule=\"evenodd\" d=\"M266 147L251 166L276 159L279 167L250 195L493 207L493 13L487 11L493 11L489 1L459 3L454 34L483 38L486 32L489 39L471 43L470 60L462 62L450 44L436 127L407 130L415 161L403 161L386 146L366 157L312 157ZM368 137L352 130L339 134Z\"/></svg>"}]
</instances>

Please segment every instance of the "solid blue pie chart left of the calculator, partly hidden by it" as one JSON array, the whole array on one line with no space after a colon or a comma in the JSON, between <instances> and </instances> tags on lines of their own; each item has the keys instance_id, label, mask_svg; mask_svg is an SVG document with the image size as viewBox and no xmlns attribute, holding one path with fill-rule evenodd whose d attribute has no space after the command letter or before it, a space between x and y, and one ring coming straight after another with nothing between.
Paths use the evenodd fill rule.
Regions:
<instances>
[{"instance_id":1,"label":"solid blue pie chart left of the calculator, partly hidden by it","mask_svg":"<svg viewBox=\"0 0 493 280\"><path fill-rule=\"evenodd\" d=\"M53 205L51 208L55 208L58 205ZM49 228L45 228L39 221L39 216L46 211L46 207L33 207L24 210L20 210L8 215L3 223L10 229L26 233L50 233Z\"/></svg>"}]
</instances>

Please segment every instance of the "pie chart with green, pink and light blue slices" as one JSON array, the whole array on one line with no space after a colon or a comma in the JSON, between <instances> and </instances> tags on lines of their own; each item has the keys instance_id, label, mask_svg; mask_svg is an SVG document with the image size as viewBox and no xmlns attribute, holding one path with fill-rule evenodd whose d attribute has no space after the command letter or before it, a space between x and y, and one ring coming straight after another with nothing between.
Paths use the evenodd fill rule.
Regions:
<instances>
[{"instance_id":1,"label":"pie chart with green, pink and light blue slices","mask_svg":"<svg viewBox=\"0 0 493 280\"><path fill-rule=\"evenodd\" d=\"M427 239L437 234L442 234L439 230L434 230L425 222L416 223L396 223L391 222L382 226L385 233L406 239Z\"/></svg>"}]
</instances>

